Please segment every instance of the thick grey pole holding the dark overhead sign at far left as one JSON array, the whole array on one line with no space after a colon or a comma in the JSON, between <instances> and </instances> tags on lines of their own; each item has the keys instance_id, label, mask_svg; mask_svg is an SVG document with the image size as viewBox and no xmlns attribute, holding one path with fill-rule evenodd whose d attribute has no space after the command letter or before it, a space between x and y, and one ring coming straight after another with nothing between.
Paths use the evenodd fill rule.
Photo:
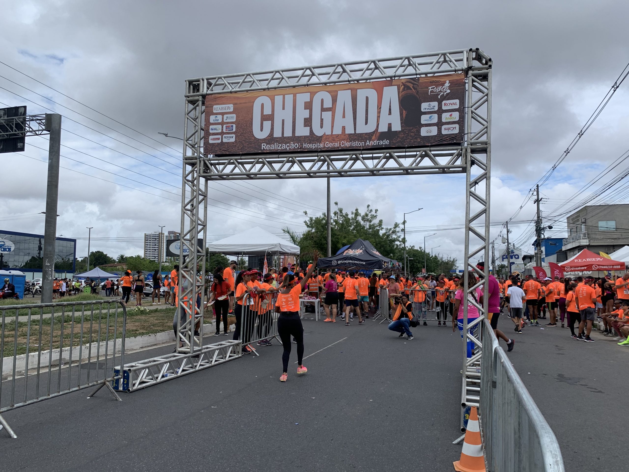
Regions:
<instances>
[{"instance_id":1,"label":"thick grey pole holding the dark overhead sign at far left","mask_svg":"<svg viewBox=\"0 0 629 472\"><path fill-rule=\"evenodd\" d=\"M46 220L43 233L42 303L52 303L52 279L55 277L55 240L57 239L61 115L46 113L45 129L50 132L50 141L48 142Z\"/></svg>"}]
</instances>

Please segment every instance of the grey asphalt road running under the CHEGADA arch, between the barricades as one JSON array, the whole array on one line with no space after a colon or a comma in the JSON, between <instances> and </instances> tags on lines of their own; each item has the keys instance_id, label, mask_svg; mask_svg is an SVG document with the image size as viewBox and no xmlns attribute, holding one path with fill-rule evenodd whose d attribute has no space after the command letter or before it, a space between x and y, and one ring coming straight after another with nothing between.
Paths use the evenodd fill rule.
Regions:
<instances>
[{"instance_id":1,"label":"grey asphalt road running under the CHEGADA arch, between the barricades","mask_svg":"<svg viewBox=\"0 0 629 472\"><path fill-rule=\"evenodd\" d=\"M84 390L4 413L18 439L0 432L0 468L452 470L460 454L451 444L459 436L458 331L433 323L407 341L372 320L304 320L304 330L306 356L326 349L304 361L309 371L299 377L293 349L286 383L274 342L258 347L260 357L123 394L123 402L106 390L87 399Z\"/></svg>"}]
</instances>

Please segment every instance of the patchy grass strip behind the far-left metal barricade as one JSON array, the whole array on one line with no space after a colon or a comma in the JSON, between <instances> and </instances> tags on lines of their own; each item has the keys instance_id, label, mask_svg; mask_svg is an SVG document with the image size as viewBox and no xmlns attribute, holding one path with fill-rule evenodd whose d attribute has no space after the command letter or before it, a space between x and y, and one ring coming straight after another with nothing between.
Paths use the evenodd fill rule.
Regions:
<instances>
[{"instance_id":1,"label":"patchy grass strip behind the far-left metal barricade","mask_svg":"<svg viewBox=\"0 0 629 472\"><path fill-rule=\"evenodd\" d=\"M42 351L48 351L48 349L50 349L51 339L52 349L57 349L60 346L69 347L79 346L81 344L86 345L90 342L104 341L106 339L112 340L114 338L114 332L116 334L116 339L121 339L123 321L122 310L121 308L118 308L118 325L116 327L114 323L114 306L116 305L111 305L109 318L106 305L103 305L102 312L94 310L93 315L91 309L81 312L79 307L79 310L75 309L74 315L72 314L72 308L70 308L70 312L65 312L64 314L60 313L54 317L42 318L41 324L39 311L36 313L36 316L35 313L33 313L30 323L30 336L28 321L18 322L16 353L18 355L26 354L27 340L29 352L37 352L38 346L40 345L40 335ZM26 311L28 312L28 310ZM148 310L147 312L140 313L129 311L127 312L126 317L126 337L136 337L171 330L172 317L174 316L174 313L174 307L159 308L157 310ZM81 315L83 317L82 336ZM72 329L73 318L74 330ZM4 324L3 357L13 356L14 340L16 339L15 328L16 326L14 321Z\"/></svg>"}]
</instances>

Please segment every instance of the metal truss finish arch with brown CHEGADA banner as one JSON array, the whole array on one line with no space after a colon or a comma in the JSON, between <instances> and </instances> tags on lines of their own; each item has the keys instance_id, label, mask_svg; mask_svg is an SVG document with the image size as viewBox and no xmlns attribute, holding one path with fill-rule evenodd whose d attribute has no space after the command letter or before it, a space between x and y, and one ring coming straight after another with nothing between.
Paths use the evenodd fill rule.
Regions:
<instances>
[{"instance_id":1,"label":"metal truss finish arch with brown CHEGADA banner","mask_svg":"<svg viewBox=\"0 0 629 472\"><path fill-rule=\"evenodd\" d=\"M491 69L491 58L470 48L186 81L181 235L190 256L180 252L187 287L179 284L186 320L192 310L181 300L203 289L196 273L205 270L205 252L196 240L206 239L208 181L465 174L464 330L482 348L470 328L484 319L489 297L484 306L468 297L481 286L470 285L468 270L489 274L489 264L483 273L470 258L489 260ZM467 303L481 313L474 322L467 323ZM194 336L190 322L178 330L179 352L202 349L203 333ZM479 404L482 349L468 359L462 344L465 408Z\"/></svg>"}]
</instances>

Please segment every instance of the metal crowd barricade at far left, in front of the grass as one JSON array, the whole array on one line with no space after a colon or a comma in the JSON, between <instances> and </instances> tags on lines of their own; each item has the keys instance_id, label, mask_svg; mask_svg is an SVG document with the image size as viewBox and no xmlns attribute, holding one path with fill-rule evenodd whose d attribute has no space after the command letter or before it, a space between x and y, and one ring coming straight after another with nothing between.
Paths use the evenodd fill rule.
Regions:
<instances>
[{"instance_id":1,"label":"metal crowd barricade at far left, in front of the grass","mask_svg":"<svg viewBox=\"0 0 629 472\"><path fill-rule=\"evenodd\" d=\"M121 300L0 306L1 413L48 398L110 385L125 362L126 308ZM90 396L92 396L90 395Z\"/></svg>"}]
</instances>

